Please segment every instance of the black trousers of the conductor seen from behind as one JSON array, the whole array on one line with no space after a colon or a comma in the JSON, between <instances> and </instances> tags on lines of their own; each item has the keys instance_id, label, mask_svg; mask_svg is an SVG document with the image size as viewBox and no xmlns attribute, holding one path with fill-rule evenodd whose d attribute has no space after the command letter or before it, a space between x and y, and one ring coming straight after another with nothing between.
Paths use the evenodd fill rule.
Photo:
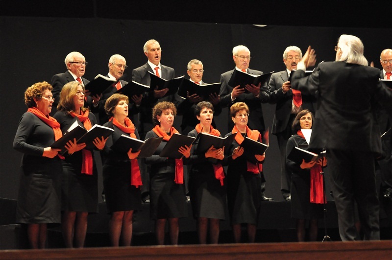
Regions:
<instances>
[{"instance_id":1,"label":"black trousers of the conductor seen from behind","mask_svg":"<svg viewBox=\"0 0 392 260\"><path fill-rule=\"evenodd\" d=\"M327 160L342 241L360 239L355 227L354 201L364 240L380 239L374 154L329 149Z\"/></svg>"}]
</instances>

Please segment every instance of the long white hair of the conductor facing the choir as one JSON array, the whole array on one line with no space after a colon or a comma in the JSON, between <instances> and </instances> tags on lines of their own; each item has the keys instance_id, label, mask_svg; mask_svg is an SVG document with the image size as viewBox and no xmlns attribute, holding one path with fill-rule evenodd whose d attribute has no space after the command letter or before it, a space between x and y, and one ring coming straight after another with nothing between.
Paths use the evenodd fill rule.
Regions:
<instances>
[{"instance_id":1,"label":"long white hair of the conductor facing the choir","mask_svg":"<svg viewBox=\"0 0 392 260\"><path fill-rule=\"evenodd\" d=\"M342 34L338 40L338 47L342 50L342 56L337 61L368 66L368 60L364 56L364 44L358 37Z\"/></svg>"}]
</instances>

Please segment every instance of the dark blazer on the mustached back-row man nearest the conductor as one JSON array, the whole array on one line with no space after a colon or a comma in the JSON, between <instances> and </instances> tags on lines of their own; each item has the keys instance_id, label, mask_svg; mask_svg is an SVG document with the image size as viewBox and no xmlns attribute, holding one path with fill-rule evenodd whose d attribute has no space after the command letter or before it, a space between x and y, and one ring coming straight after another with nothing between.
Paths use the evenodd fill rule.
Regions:
<instances>
[{"instance_id":1,"label":"dark blazer on the mustached back-row man nearest the conductor","mask_svg":"<svg viewBox=\"0 0 392 260\"><path fill-rule=\"evenodd\" d=\"M290 89L288 92L283 93L282 90L283 83L288 80L289 75L286 70L273 73L270 77L270 82L268 84L270 95L269 103L276 104L271 134L277 134L285 131L287 129L287 125L289 124L293 105L293 91ZM316 97L305 93L301 93L301 97L301 108L309 109L310 112L315 114L313 102L316 101Z\"/></svg>"}]
</instances>

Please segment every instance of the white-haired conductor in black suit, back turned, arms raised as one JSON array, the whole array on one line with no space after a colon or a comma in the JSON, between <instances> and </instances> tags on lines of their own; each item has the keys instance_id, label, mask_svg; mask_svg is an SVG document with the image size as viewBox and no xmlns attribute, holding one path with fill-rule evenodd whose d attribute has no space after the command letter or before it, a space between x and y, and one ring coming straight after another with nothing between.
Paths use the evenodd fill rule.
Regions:
<instances>
[{"instance_id":1,"label":"white-haired conductor in black suit, back turned, arms raised","mask_svg":"<svg viewBox=\"0 0 392 260\"><path fill-rule=\"evenodd\" d=\"M322 62L305 77L305 68L316 62L309 47L297 65L291 86L301 93L319 91L309 149L327 151L341 239L360 239L354 201L364 239L380 239L374 159L382 148L373 105L378 101L392 116L392 91L378 80L380 71L367 66L358 37L341 35L335 50L335 62Z\"/></svg>"}]
</instances>

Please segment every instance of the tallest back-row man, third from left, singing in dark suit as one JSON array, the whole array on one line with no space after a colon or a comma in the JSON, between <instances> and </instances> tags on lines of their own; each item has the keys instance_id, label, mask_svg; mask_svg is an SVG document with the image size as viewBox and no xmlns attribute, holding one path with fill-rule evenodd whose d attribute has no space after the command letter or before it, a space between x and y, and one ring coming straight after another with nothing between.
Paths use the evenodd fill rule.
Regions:
<instances>
[{"instance_id":1,"label":"tallest back-row man, third from left, singing in dark suit","mask_svg":"<svg viewBox=\"0 0 392 260\"><path fill-rule=\"evenodd\" d=\"M174 78L174 69L161 64L161 46L156 40L148 40L143 47L144 54L147 57L147 63L132 71L132 80L138 83L150 86L150 75L148 71L155 75L164 78ZM150 86L152 88L152 86ZM142 98L139 113L138 132L140 139L144 140L148 131L150 131L154 124L152 123L152 108L156 103L161 101L170 101L178 104L181 98L175 95L165 96L169 89L156 90L145 93ZM178 96L178 95L177 95ZM182 100L181 100L182 101ZM145 164L141 166L142 174L142 199L144 202L149 202L149 173L148 167Z\"/></svg>"}]
</instances>

